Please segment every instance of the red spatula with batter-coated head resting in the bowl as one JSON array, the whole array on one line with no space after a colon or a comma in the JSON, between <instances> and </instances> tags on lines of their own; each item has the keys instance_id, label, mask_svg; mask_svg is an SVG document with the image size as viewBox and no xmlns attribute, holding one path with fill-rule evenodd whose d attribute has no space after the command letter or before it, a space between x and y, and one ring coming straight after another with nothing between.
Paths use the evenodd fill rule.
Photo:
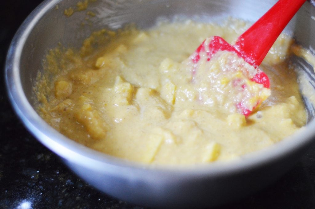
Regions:
<instances>
[{"instance_id":1,"label":"red spatula with batter-coated head resting in the bowl","mask_svg":"<svg viewBox=\"0 0 315 209\"><path fill-rule=\"evenodd\" d=\"M230 71L234 71L234 74L237 70L242 76L233 75L234 77L229 77L229 82L232 83L232 91L223 89L223 87L218 91L225 93L231 98L231 102L236 107L236 112L248 116L270 95L270 93L266 93L266 89L270 87L268 76L262 72L258 66L265 58L267 52L284 27L305 1L306 0L279 0L254 25L238 37L234 46L230 45L219 36L207 38L190 56L194 66L193 74L195 74L201 66L207 67L210 59L221 51L232 52L237 54L239 58L243 58L245 62L253 66L252 69L247 69L243 67L243 65L231 69ZM225 74L224 76L227 75ZM222 77L220 78L222 79ZM218 85L215 86L215 88L218 89L220 87Z\"/></svg>"}]
</instances>

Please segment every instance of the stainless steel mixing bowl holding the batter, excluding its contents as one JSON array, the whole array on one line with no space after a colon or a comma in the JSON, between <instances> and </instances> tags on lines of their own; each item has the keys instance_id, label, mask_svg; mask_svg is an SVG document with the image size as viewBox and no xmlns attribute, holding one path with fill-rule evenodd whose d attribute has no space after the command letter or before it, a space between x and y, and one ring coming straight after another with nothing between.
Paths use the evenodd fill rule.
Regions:
<instances>
[{"instance_id":1,"label":"stainless steel mixing bowl holding the batter, excluding its contents","mask_svg":"<svg viewBox=\"0 0 315 209\"><path fill-rule=\"evenodd\" d=\"M129 162L84 147L50 127L34 110L33 81L43 71L42 60L58 43L79 47L92 31L117 29L128 23L140 28L159 17L174 15L200 21L220 21L232 16L255 21L276 1L265 0L98 0L87 10L96 16L82 26L86 11L71 17L64 10L72 0L46 0L24 21L9 48L5 78L16 113L30 132L64 159L77 175L109 195L135 204L156 207L210 207L249 195L284 174L306 151L315 136L312 105L308 124L301 132L264 151L234 162L216 162L188 168L152 167ZM306 48L315 48L315 7L306 2L286 31ZM311 66L301 59L305 70ZM309 72L311 72L309 70ZM310 76L312 77L312 76Z\"/></svg>"}]
</instances>

